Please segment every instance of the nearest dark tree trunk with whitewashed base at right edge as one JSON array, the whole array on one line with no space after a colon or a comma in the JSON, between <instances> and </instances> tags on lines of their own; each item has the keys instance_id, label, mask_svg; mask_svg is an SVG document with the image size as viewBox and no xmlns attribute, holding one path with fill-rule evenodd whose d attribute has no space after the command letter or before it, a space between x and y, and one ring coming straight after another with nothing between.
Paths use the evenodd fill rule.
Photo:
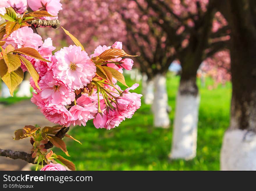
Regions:
<instances>
[{"instance_id":1,"label":"nearest dark tree trunk with whitewashed base at right edge","mask_svg":"<svg viewBox=\"0 0 256 191\"><path fill-rule=\"evenodd\" d=\"M256 170L256 27L253 1L225 1L232 30L230 127L221 149L222 170ZM254 13L254 14L253 14Z\"/></svg>"}]
</instances>

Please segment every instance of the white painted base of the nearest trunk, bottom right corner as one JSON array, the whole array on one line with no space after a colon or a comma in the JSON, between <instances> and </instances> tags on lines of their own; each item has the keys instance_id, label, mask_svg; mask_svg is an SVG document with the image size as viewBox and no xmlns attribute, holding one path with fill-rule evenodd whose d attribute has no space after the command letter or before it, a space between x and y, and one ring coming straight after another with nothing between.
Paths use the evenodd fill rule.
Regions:
<instances>
[{"instance_id":1,"label":"white painted base of the nearest trunk, bottom right corner","mask_svg":"<svg viewBox=\"0 0 256 191\"><path fill-rule=\"evenodd\" d=\"M256 170L255 132L240 129L225 132L221 170Z\"/></svg>"}]
</instances>

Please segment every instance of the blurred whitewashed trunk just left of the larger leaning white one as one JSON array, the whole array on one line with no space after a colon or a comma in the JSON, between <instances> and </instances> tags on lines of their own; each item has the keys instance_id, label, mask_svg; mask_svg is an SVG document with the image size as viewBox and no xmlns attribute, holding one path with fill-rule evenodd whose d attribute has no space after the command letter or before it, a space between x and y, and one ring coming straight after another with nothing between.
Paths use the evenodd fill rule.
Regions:
<instances>
[{"instance_id":1,"label":"blurred whitewashed trunk just left of the larger leaning white one","mask_svg":"<svg viewBox=\"0 0 256 191\"><path fill-rule=\"evenodd\" d=\"M170 119L167 112L168 95L165 75L157 74L154 78L154 103L152 107L154 114L154 126L168 128L170 125Z\"/></svg>"}]
</instances>

